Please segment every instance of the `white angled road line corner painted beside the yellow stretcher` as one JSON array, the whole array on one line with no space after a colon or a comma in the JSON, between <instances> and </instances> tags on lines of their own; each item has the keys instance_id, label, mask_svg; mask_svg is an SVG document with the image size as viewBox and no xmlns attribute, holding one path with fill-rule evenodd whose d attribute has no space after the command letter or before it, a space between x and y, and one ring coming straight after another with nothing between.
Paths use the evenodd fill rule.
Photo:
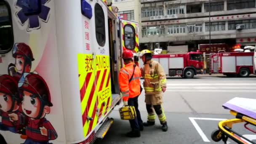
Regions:
<instances>
[{"instance_id":1,"label":"white angled road line corner painted beside the yellow stretcher","mask_svg":"<svg viewBox=\"0 0 256 144\"><path fill-rule=\"evenodd\" d=\"M220 118L203 118L203 117L189 117L189 120L191 121L191 123L194 125L195 129L197 130L197 132L199 133L199 135L202 137L203 141L205 142L211 142L207 136L205 135L205 133L202 131L202 129L199 127L199 125L197 124L197 122L195 120L218 120L218 121L222 121L222 120L227 120L227 119L220 119Z\"/></svg>"}]
</instances>

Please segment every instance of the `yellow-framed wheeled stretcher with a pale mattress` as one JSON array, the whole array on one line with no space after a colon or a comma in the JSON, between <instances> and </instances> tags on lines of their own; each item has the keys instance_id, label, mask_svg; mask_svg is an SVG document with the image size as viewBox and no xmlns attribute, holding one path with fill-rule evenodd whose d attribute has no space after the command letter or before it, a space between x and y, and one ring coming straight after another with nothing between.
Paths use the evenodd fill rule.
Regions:
<instances>
[{"instance_id":1,"label":"yellow-framed wheeled stretcher with a pale mattress","mask_svg":"<svg viewBox=\"0 0 256 144\"><path fill-rule=\"evenodd\" d=\"M223 141L227 144L227 139L230 138L237 144L256 144L237 131L232 130L232 126L238 123L244 123L244 127L256 133L256 100L234 98L223 105L225 109L229 109L230 113L235 116L234 119L223 120L218 124L218 130L215 130L211 134L213 141ZM251 125L250 128L248 125ZM253 128L251 128L253 127ZM248 143L250 142L250 143Z\"/></svg>"}]
</instances>

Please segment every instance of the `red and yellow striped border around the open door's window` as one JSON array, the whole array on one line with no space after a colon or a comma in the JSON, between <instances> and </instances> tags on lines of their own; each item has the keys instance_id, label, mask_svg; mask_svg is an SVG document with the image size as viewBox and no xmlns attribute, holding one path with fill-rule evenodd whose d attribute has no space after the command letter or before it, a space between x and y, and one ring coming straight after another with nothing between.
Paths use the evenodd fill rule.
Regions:
<instances>
[{"instance_id":1,"label":"red and yellow striped border around the open door's window","mask_svg":"<svg viewBox=\"0 0 256 144\"><path fill-rule=\"evenodd\" d=\"M135 29L135 48L134 48L134 52L138 53L139 52L139 36L138 36L138 32L139 32L139 25L133 22L128 22L128 21L123 21L122 23L122 32L123 32L123 40L122 40L122 45L123 45L123 50L125 50L125 31L124 31L124 27L126 24L131 24L133 26L133 28Z\"/></svg>"}]
</instances>

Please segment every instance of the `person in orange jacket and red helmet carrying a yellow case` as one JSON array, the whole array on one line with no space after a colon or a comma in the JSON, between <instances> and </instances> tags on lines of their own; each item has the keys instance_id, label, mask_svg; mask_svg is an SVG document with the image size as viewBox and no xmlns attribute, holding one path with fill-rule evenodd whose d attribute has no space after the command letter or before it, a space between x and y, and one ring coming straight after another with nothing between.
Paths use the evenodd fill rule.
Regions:
<instances>
[{"instance_id":1,"label":"person in orange jacket and red helmet carrying a yellow case","mask_svg":"<svg viewBox=\"0 0 256 144\"><path fill-rule=\"evenodd\" d=\"M141 71L139 67L133 63L133 53L130 50L123 51L123 61L125 67L119 73L119 85L123 95L123 103L125 106L134 106L137 116L133 120L129 120L132 131L127 133L128 137L140 137L140 131L143 131L143 122L138 109L138 97L140 95L140 77ZM134 69L135 67L135 69ZM134 74L133 74L134 69ZM133 77L132 77L133 75ZM132 77L132 79L131 79ZM131 82L129 83L129 80Z\"/></svg>"}]
</instances>

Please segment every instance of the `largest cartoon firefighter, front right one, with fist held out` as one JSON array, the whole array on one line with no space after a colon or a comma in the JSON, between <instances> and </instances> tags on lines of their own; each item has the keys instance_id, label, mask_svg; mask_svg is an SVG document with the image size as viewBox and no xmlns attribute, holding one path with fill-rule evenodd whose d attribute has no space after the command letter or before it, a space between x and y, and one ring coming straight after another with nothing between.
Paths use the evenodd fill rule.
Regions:
<instances>
[{"instance_id":1,"label":"largest cartoon firefighter, front right one, with fist held out","mask_svg":"<svg viewBox=\"0 0 256 144\"><path fill-rule=\"evenodd\" d=\"M50 113L51 95L45 80L37 74L25 72L18 83L23 96L21 109L24 115L11 115L12 119L21 119L26 124L27 139L24 144L49 144L57 138L57 133L45 115Z\"/></svg>"}]
</instances>

